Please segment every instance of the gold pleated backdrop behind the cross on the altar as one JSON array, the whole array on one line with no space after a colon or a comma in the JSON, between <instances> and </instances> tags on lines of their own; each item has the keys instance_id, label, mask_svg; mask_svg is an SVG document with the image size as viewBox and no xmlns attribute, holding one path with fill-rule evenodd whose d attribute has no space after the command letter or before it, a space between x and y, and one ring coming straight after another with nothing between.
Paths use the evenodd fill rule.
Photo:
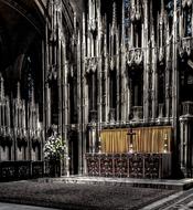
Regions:
<instances>
[{"instance_id":1,"label":"gold pleated backdrop behind the cross on the altar","mask_svg":"<svg viewBox=\"0 0 193 210\"><path fill-rule=\"evenodd\" d=\"M101 153L128 153L132 144L135 153L170 153L172 127L138 127L132 128L133 136L128 136L128 128L104 129L100 133Z\"/></svg>"}]
</instances>

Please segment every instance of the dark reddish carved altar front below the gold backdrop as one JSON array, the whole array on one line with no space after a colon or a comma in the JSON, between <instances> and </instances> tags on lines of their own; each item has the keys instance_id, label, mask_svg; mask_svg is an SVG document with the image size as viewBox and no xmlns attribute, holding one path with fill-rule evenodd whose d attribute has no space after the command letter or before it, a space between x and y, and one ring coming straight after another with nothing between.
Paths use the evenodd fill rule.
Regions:
<instances>
[{"instance_id":1,"label":"dark reddish carved altar front below the gold backdrop","mask_svg":"<svg viewBox=\"0 0 193 210\"><path fill-rule=\"evenodd\" d=\"M86 154L87 176L160 179L171 176L171 154Z\"/></svg>"}]
</instances>

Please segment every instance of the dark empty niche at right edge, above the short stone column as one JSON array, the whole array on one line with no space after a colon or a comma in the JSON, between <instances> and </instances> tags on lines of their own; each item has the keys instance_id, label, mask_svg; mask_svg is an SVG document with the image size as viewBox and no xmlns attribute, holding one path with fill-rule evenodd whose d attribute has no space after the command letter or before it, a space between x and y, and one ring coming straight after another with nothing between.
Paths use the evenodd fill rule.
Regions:
<instances>
[{"instance_id":1,"label":"dark empty niche at right edge, above the short stone column","mask_svg":"<svg viewBox=\"0 0 193 210\"><path fill-rule=\"evenodd\" d=\"M193 62L185 57L180 61L180 99L193 102Z\"/></svg>"}]
</instances>

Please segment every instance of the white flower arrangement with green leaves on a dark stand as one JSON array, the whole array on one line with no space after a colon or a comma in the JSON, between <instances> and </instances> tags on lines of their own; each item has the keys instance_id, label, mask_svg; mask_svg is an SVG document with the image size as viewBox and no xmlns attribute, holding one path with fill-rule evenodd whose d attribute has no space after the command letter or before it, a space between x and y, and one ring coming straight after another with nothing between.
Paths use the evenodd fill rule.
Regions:
<instances>
[{"instance_id":1,"label":"white flower arrangement with green leaves on a dark stand","mask_svg":"<svg viewBox=\"0 0 193 210\"><path fill-rule=\"evenodd\" d=\"M45 159L62 159L66 153L66 144L58 135L52 135L44 145Z\"/></svg>"}]
</instances>

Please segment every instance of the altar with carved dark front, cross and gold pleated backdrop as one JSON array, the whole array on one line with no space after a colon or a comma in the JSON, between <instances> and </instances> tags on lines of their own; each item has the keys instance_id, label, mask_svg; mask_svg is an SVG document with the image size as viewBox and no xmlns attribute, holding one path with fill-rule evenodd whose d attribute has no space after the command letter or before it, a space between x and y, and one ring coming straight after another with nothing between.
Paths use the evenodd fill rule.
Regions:
<instances>
[{"instance_id":1,"label":"altar with carved dark front, cross and gold pleated backdrop","mask_svg":"<svg viewBox=\"0 0 193 210\"><path fill-rule=\"evenodd\" d=\"M172 127L104 129L100 137L99 153L85 154L88 176L150 179L171 176Z\"/></svg>"}]
</instances>

